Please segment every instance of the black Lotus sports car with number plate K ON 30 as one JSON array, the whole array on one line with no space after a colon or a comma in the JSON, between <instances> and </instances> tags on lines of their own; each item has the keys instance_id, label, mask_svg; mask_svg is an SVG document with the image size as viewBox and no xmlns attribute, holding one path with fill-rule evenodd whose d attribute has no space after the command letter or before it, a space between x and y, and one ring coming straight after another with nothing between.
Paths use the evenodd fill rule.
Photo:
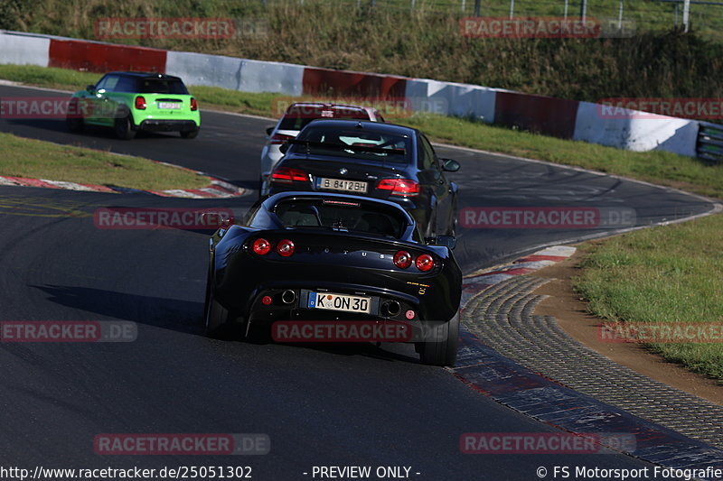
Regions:
<instances>
[{"instance_id":1,"label":"black Lotus sports car with number plate K ON 30","mask_svg":"<svg viewBox=\"0 0 723 481\"><path fill-rule=\"evenodd\" d=\"M415 337L390 342L414 342L423 363L454 365L462 292L454 237L427 245L396 203L318 192L271 196L244 224L211 238L210 336L287 320L404 323Z\"/></svg>"}]
</instances>

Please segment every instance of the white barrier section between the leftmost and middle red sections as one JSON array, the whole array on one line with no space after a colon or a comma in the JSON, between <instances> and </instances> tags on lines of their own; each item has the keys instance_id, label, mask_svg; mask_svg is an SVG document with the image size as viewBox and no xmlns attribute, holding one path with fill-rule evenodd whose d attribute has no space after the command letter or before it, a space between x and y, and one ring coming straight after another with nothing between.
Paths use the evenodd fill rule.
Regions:
<instances>
[{"instance_id":1,"label":"white barrier section between the leftmost and middle red sections","mask_svg":"<svg viewBox=\"0 0 723 481\"><path fill-rule=\"evenodd\" d=\"M165 73L181 77L188 85L290 96L300 96L303 92L304 66L290 63L168 51Z\"/></svg>"}]
</instances>

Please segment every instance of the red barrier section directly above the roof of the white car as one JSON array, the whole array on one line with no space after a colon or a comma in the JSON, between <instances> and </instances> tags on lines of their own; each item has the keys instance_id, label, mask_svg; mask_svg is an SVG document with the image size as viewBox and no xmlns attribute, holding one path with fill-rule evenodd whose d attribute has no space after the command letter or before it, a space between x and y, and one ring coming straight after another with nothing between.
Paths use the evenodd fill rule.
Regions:
<instances>
[{"instance_id":1,"label":"red barrier section directly above the roof of the white car","mask_svg":"<svg viewBox=\"0 0 723 481\"><path fill-rule=\"evenodd\" d=\"M305 95L403 98L407 79L345 70L304 69Z\"/></svg>"}]
</instances>

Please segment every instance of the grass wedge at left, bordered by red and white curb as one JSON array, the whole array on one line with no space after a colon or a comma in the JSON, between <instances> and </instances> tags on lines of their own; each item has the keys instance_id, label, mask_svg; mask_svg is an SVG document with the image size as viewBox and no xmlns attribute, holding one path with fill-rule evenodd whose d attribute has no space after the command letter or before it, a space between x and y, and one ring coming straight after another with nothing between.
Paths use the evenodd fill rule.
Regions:
<instances>
[{"instance_id":1,"label":"grass wedge at left, bordered by red and white curb","mask_svg":"<svg viewBox=\"0 0 723 481\"><path fill-rule=\"evenodd\" d=\"M0 174L143 190L198 189L208 185L206 178L192 171L146 159L3 133Z\"/></svg>"}]
</instances>

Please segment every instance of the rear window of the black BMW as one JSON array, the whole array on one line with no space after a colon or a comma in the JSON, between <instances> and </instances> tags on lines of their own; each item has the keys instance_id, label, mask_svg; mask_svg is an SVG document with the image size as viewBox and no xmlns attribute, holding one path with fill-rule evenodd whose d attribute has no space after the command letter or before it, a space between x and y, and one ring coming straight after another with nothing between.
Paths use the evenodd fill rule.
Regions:
<instances>
[{"instance_id":1,"label":"rear window of the black BMW","mask_svg":"<svg viewBox=\"0 0 723 481\"><path fill-rule=\"evenodd\" d=\"M296 153L378 162L407 163L411 153L411 139L408 135L371 132L356 127L340 129L310 125L292 144L292 150Z\"/></svg>"}]
</instances>

